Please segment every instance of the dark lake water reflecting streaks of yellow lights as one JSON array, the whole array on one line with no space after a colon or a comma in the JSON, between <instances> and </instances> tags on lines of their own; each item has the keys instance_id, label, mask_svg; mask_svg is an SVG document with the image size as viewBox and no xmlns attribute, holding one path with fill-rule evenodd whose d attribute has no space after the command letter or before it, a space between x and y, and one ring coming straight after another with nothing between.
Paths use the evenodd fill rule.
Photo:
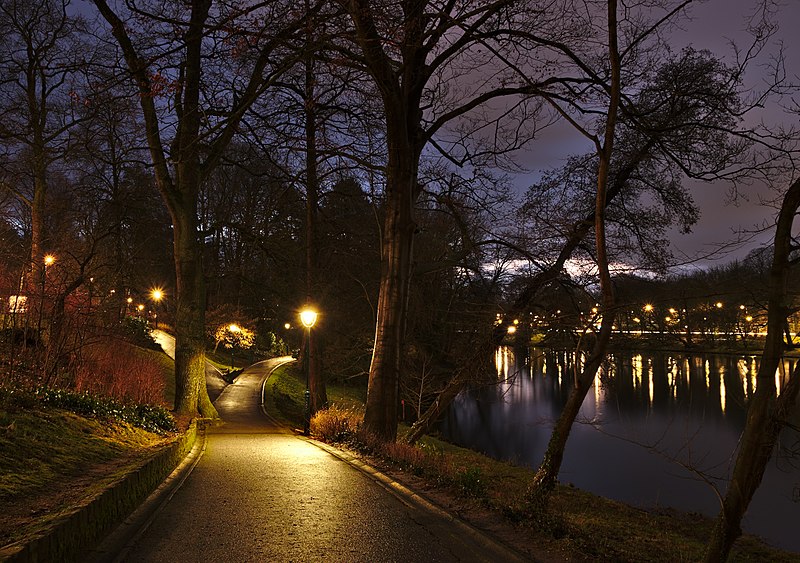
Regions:
<instances>
[{"instance_id":1,"label":"dark lake water reflecting streaks of yellow lights","mask_svg":"<svg viewBox=\"0 0 800 563\"><path fill-rule=\"evenodd\" d=\"M791 373L776 373L778 389ZM497 351L496 385L462 393L442 432L497 459L537 467L570 389L570 353ZM614 354L573 427L559 480L642 507L716 515L733 467L744 404L755 388L753 356ZM800 427L795 409L792 423ZM800 552L800 433L787 429L745 516L745 531Z\"/></svg>"}]
</instances>

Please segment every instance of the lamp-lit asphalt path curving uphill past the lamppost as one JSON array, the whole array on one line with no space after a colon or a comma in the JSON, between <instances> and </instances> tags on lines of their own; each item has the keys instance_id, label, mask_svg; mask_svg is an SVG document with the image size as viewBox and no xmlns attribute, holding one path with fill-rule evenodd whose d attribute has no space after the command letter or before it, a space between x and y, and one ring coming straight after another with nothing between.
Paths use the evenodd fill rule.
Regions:
<instances>
[{"instance_id":1,"label":"lamp-lit asphalt path curving uphill past the lamppost","mask_svg":"<svg viewBox=\"0 0 800 563\"><path fill-rule=\"evenodd\" d=\"M96 561L522 561L337 450L281 427L262 389L291 358L245 369L216 399L223 424L179 486ZM105 551L103 551L103 549Z\"/></svg>"}]
</instances>

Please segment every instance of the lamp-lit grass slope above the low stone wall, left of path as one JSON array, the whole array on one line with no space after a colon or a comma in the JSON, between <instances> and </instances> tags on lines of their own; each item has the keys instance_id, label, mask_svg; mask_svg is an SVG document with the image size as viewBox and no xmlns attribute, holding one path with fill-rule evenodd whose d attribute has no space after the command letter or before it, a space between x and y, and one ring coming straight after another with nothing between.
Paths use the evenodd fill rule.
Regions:
<instances>
[{"instance_id":1,"label":"lamp-lit grass slope above the low stone wall, left of path","mask_svg":"<svg viewBox=\"0 0 800 563\"><path fill-rule=\"evenodd\" d=\"M0 410L0 545L46 528L173 439L59 408Z\"/></svg>"}]
</instances>

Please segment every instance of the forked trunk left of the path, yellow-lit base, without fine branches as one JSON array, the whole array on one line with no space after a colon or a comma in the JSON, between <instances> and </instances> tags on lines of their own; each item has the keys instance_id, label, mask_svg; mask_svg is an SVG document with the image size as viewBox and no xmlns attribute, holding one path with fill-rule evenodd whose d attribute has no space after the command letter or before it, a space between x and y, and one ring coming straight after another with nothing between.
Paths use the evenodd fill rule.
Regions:
<instances>
[{"instance_id":1,"label":"forked trunk left of the path, yellow-lit base, without fine branches","mask_svg":"<svg viewBox=\"0 0 800 563\"><path fill-rule=\"evenodd\" d=\"M203 246L197 225L197 201L203 170L200 159L200 84L203 72L204 27L211 0L192 0L190 17L181 36L183 80L177 105L175 137L169 157L161 138L161 124L155 104L152 71L142 58L127 27L105 0L95 0L101 15L111 25L125 61L139 89L145 121L145 136L156 184L170 212L173 224L176 317L175 317L175 410L180 415L218 416L211 404L205 380L205 280Z\"/></svg>"}]
</instances>

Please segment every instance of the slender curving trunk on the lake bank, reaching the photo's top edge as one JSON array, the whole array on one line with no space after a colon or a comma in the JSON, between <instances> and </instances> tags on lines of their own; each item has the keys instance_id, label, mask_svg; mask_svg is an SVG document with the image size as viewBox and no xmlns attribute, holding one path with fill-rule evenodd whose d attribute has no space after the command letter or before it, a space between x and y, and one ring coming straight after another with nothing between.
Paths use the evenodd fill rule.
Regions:
<instances>
[{"instance_id":1,"label":"slender curving trunk on the lake bank, reaching the photo's top edge","mask_svg":"<svg viewBox=\"0 0 800 563\"><path fill-rule=\"evenodd\" d=\"M608 0L608 55L611 63L611 84L608 115L606 117L605 132L602 141L597 142L597 152L600 164L597 170L597 194L595 197L595 251L597 253L597 267L600 277L600 290L602 292L601 314L602 325L597 335L592 354L586 364L574 379L572 392L567 399L561 415L556 421L550 441L547 444L539 469L534 476L530 489L530 498L534 501L544 501L553 490L561 463L564 459L567 438L569 438L572 425L578 416L586 394L592 386L597 375L597 370L606 356L608 343L611 340L612 326L614 325L614 288L611 281L611 272L608 265L606 251L605 210L606 192L608 189L608 176L611 166L611 156L614 150L614 131L616 128L617 110L620 98L620 61L617 48L617 2ZM577 358L576 358L577 361Z\"/></svg>"}]
</instances>

